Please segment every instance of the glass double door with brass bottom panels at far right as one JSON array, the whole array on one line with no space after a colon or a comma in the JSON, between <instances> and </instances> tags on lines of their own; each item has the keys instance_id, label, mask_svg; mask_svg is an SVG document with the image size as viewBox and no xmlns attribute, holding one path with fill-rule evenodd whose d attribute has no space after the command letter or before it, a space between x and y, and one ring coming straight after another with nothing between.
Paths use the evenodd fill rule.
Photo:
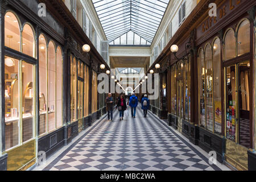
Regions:
<instances>
[{"instance_id":1,"label":"glass double door with brass bottom panels at far right","mask_svg":"<svg viewBox=\"0 0 256 182\"><path fill-rule=\"evenodd\" d=\"M242 61L225 68L226 75L226 156L231 163L247 166L250 148L250 63ZM235 162L236 161L236 162ZM229 161L230 162L230 161Z\"/></svg>"}]
</instances>

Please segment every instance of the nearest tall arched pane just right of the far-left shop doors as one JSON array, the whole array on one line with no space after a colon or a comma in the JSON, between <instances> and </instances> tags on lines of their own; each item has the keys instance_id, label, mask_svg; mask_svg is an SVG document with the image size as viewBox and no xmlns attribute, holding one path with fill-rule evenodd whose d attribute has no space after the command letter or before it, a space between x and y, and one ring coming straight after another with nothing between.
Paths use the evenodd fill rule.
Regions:
<instances>
[{"instance_id":1,"label":"nearest tall arched pane just right of the far-left shop doors","mask_svg":"<svg viewBox=\"0 0 256 182\"><path fill-rule=\"evenodd\" d=\"M39 36L39 135L47 131L47 44L43 35Z\"/></svg>"}]
</instances>

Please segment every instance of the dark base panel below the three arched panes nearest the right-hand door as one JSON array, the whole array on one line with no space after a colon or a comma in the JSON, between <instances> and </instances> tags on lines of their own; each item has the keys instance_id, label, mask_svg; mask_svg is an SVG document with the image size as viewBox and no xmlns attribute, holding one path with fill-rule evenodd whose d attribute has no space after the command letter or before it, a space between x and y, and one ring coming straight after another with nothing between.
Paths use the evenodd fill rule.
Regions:
<instances>
[{"instance_id":1,"label":"dark base panel below the three arched panes nearest the right-hand door","mask_svg":"<svg viewBox=\"0 0 256 182\"><path fill-rule=\"evenodd\" d=\"M224 161L226 139L199 127L198 145L206 152L216 151L218 162Z\"/></svg>"}]
</instances>

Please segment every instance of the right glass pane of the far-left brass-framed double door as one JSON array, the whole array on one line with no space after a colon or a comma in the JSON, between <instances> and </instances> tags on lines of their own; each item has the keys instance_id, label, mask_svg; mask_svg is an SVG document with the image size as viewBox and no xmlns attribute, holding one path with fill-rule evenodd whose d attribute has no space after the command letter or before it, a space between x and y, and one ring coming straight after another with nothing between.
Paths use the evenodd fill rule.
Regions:
<instances>
[{"instance_id":1,"label":"right glass pane of the far-left brass-framed double door","mask_svg":"<svg viewBox=\"0 0 256 182\"><path fill-rule=\"evenodd\" d=\"M33 138L34 66L22 61L22 142Z\"/></svg>"}]
</instances>

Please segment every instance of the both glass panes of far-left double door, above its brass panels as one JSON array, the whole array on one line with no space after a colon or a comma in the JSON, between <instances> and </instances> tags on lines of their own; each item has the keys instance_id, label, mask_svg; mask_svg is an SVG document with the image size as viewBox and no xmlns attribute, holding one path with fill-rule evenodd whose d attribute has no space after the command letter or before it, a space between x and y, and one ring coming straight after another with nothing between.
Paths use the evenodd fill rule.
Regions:
<instances>
[{"instance_id":1,"label":"both glass panes of far-left double door, above its brass panels","mask_svg":"<svg viewBox=\"0 0 256 182\"><path fill-rule=\"evenodd\" d=\"M34 138L34 76L34 65L5 57L6 150Z\"/></svg>"}]
</instances>

